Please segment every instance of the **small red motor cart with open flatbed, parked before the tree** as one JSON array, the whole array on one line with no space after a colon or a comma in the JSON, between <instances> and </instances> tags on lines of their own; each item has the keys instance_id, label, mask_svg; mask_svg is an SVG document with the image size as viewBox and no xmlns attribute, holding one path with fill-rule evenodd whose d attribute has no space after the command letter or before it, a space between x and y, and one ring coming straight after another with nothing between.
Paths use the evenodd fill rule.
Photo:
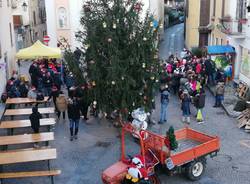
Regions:
<instances>
[{"instance_id":1,"label":"small red motor cart with open flatbed, parked before the tree","mask_svg":"<svg viewBox=\"0 0 250 184\"><path fill-rule=\"evenodd\" d=\"M136 179L128 174L130 168L129 158L126 156L125 135L135 134L130 124L125 124L121 135L121 159L103 171L102 181L105 184L126 183L129 179L140 183L140 178ZM189 179L198 180L204 173L206 156L216 156L220 149L220 140L217 136L209 136L191 128L184 128L175 131L178 141L178 149L170 151L164 144L165 137L144 131L144 136L139 137L140 152L144 167L147 172L149 183L159 184L156 177L155 168L161 166L166 172L185 172Z\"/></svg>"}]
</instances>

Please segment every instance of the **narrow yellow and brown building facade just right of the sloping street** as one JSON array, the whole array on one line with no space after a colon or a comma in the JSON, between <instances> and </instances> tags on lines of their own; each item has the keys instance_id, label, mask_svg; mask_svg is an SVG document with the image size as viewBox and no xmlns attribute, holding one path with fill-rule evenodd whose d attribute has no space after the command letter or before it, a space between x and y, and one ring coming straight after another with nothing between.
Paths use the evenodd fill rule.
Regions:
<instances>
[{"instance_id":1,"label":"narrow yellow and brown building facade just right of the sloping street","mask_svg":"<svg viewBox=\"0 0 250 184\"><path fill-rule=\"evenodd\" d=\"M185 45L204 47L208 45L212 26L209 21L210 0L186 0Z\"/></svg>"}]
</instances>

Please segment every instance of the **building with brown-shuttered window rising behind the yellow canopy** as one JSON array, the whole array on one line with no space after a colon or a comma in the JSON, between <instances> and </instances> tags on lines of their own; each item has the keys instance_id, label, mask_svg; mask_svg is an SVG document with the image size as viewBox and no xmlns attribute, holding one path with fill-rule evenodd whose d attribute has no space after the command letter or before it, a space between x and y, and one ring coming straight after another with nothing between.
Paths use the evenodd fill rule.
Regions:
<instances>
[{"instance_id":1,"label":"building with brown-shuttered window rising behind the yellow canopy","mask_svg":"<svg viewBox=\"0 0 250 184\"><path fill-rule=\"evenodd\" d=\"M29 47L47 35L45 0L12 0L16 49Z\"/></svg>"}]
</instances>

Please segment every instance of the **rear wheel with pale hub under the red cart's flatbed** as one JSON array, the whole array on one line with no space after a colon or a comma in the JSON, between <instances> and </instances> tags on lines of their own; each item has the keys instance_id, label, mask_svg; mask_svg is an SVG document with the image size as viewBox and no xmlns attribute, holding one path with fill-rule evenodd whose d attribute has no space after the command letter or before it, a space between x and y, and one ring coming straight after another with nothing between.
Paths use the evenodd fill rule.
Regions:
<instances>
[{"instance_id":1,"label":"rear wheel with pale hub under the red cart's flatbed","mask_svg":"<svg viewBox=\"0 0 250 184\"><path fill-rule=\"evenodd\" d=\"M192 181L199 180L205 171L205 163L204 159L199 159L188 164L186 166L187 177Z\"/></svg>"}]
</instances>

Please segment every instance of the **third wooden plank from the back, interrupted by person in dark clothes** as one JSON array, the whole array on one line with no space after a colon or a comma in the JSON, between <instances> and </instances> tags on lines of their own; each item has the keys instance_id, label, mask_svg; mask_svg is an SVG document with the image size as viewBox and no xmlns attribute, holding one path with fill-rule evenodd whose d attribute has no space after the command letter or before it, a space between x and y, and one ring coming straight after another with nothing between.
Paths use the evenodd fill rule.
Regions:
<instances>
[{"instance_id":1,"label":"third wooden plank from the back, interrupted by person in dark clothes","mask_svg":"<svg viewBox=\"0 0 250 184\"><path fill-rule=\"evenodd\" d=\"M52 126L56 124L55 118L44 118L40 119L40 126ZM30 120L14 120L14 121L2 121L0 129L6 128L25 128L30 127Z\"/></svg>"}]
</instances>

